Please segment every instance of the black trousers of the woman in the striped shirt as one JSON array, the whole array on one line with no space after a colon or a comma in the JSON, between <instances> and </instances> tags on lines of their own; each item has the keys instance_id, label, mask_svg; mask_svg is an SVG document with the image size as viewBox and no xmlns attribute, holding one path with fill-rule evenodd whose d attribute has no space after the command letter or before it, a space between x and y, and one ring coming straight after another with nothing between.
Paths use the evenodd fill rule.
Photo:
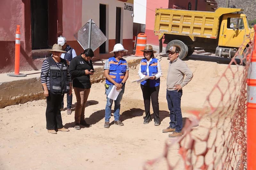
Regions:
<instances>
[{"instance_id":1,"label":"black trousers of the woman in the striped shirt","mask_svg":"<svg viewBox=\"0 0 256 170\"><path fill-rule=\"evenodd\" d=\"M62 119L60 114L62 95L52 94L49 90L49 96L46 97L46 129L61 129L63 128Z\"/></svg>"}]
</instances>

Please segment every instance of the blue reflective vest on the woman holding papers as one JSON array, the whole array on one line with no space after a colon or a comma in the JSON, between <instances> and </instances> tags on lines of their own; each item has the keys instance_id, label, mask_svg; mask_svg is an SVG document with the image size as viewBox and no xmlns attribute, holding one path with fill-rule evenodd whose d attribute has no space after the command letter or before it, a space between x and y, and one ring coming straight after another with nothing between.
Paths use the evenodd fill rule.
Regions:
<instances>
[{"instance_id":1,"label":"blue reflective vest on the woman holding papers","mask_svg":"<svg viewBox=\"0 0 256 170\"><path fill-rule=\"evenodd\" d=\"M145 76L147 76L148 75L147 67L148 67L149 76L155 76L158 73L157 62L158 62L158 60L156 58L152 58L151 62L149 63L149 66L148 66L147 59L143 58L140 61L141 73L144 74ZM149 83L149 87L156 87L156 86L160 85L160 78L153 79L153 80L147 79L147 80L142 81L140 84L145 85L147 82Z\"/></svg>"}]
</instances>

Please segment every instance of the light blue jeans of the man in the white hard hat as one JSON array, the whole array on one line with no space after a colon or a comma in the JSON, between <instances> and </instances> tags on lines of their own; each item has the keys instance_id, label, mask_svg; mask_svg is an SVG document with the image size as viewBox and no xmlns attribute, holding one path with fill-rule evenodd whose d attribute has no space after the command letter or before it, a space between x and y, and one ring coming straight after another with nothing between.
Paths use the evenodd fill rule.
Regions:
<instances>
[{"instance_id":1,"label":"light blue jeans of the man in the white hard hat","mask_svg":"<svg viewBox=\"0 0 256 170\"><path fill-rule=\"evenodd\" d=\"M108 96L109 92L111 91L113 85L108 85L108 89L106 89L106 95ZM124 85L122 86L122 90L121 92L119 93L119 95L117 96L116 100L115 100L115 107L114 107L114 118L115 118L115 121L118 121L119 120L119 117L120 117L120 102L122 100L122 97L123 97L123 94L124 94ZM113 104L113 100L112 99L109 99L107 97L107 104L106 104L106 108L105 108L105 122L109 122L109 119L110 119L110 116L111 116L111 107L112 107L112 104Z\"/></svg>"}]
</instances>

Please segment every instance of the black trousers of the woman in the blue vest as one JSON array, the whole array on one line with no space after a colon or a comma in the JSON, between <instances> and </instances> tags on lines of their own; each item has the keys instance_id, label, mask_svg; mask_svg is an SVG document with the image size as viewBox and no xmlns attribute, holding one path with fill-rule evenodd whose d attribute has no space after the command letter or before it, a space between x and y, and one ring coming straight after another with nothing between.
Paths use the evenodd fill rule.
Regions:
<instances>
[{"instance_id":1,"label":"black trousers of the woman in the blue vest","mask_svg":"<svg viewBox=\"0 0 256 170\"><path fill-rule=\"evenodd\" d=\"M158 93L159 93L159 86L156 87L149 87L140 85L140 88L142 90L143 99L144 99L144 106L145 106L145 121L149 122L151 120L150 117L150 98L151 103L154 111L154 122L160 123L159 120L159 103L158 103Z\"/></svg>"}]
</instances>

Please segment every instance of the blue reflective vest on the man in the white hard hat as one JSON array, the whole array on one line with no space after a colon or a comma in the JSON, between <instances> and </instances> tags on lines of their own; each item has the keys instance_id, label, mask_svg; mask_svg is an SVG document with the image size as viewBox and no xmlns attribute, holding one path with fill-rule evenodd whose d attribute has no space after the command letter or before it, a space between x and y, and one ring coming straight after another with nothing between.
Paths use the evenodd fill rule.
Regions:
<instances>
[{"instance_id":1,"label":"blue reflective vest on the man in the white hard hat","mask_svg":"<svg viewBox=\"0 0 256 170\"><path fill-rule=\"evenodd\" d=\"M116 61L115 57L110 57L108 59L109 63L109 76L116 82L121 83L124 79L126 68L127 68L127 62L123 58L120 59L120 61ZM108 85L114 85L108 79L106 78L106 84Z\"/></svg>"}]
</instances>

